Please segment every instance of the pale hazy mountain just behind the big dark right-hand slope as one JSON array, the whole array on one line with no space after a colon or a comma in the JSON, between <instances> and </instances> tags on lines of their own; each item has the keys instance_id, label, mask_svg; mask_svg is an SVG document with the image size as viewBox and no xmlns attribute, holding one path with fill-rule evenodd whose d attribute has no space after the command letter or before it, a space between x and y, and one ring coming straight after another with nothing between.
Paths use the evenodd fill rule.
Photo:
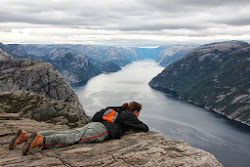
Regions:
<instances>
[{"instance_id":1,"label":"pale hazy mountain just behind the big dark right-hand slope","mask_svg":"<svg viewBox=\"0 0 250 167\"><path fill-rule=\"evenodd\" d=\"M160 53L158 54L156 61L159 62L161 66L167 67L169 64L185 56L185 53L194 47L195 46L191 45L171 45L160 47Z\"/></svg>"}]
</instances>

